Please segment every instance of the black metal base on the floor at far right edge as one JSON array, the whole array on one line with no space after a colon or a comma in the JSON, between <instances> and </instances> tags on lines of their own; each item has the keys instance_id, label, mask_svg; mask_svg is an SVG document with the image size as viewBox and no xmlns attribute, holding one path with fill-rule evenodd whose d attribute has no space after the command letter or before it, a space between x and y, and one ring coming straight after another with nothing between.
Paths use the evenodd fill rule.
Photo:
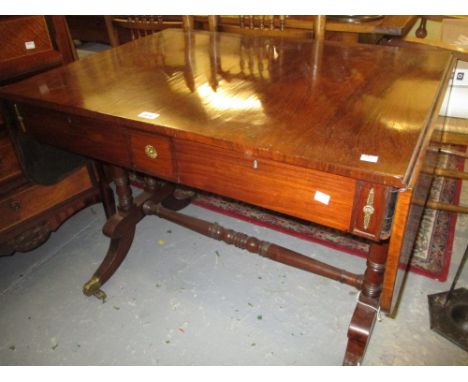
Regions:
<instances>
[{"instance_id":1,"label":"black metal base on the floor at far right edge","mask_svg":"<svg viewBox=\"0 0 468 382\"><path fill-rule=\"evenodd\" d=\"M468 258L468 246L450 290L427 296L431 329L468 351L468 289L455 285Z\"/></svg>"}]
</instances>

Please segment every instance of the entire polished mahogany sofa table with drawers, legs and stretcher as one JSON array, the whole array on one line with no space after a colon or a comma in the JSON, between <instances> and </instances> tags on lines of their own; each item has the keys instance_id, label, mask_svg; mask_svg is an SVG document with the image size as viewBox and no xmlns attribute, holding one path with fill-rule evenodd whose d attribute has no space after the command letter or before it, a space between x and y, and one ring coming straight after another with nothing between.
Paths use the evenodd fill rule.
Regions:
<instances>
[{"instance_id":1,"label":"entire polished mahogany sofa table with drawers, legs and stretcher","mask_svg":"<svg viewBox=\"0 0 468 382\"><path fill-rule=\"evenodd\" d=\"M156 214L356 287L344 364L358 364L377 312L394 312L453 65L446 52L167 29L0 96L17 110L16 129L112 165L118 212L103 228L109 251L86 295L105 297L136 224ZM93 76L95 67L107 75ZM128 170L147 176L135 198ZM185 216L177 210L190 200L177 199L175 184L363 237L371 243L363 272Z\"/></svg>"}]
</instances>

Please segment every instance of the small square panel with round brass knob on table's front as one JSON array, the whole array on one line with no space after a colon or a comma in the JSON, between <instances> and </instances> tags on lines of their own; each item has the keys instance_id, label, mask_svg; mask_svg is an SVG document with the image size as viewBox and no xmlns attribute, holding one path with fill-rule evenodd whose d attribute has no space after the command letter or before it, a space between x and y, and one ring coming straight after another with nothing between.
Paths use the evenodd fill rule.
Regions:
<instances>
[{"instance_id":1,"label":"small square panel with round brass knob on table's front","mask_svg":"<svg viewBox=\"0 0 468 382\"><path fill-rule=\"evenodd\" d=\"M130 142L135 170L168 180L176 179L170 138L154 134L132 134Z\"/></svg>"}]
</instances>

